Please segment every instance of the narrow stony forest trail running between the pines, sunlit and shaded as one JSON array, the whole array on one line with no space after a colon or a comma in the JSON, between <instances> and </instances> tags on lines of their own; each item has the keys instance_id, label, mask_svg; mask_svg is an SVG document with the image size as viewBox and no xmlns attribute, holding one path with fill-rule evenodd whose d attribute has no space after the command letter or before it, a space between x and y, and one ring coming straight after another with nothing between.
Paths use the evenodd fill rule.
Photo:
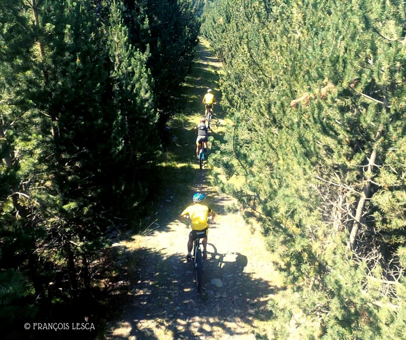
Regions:
<instances>
[{"instance_id":1,"label":"narrow stony forest trail running between the pines, sunlit and shaded","mask_svg":"<svg viewBox=\"0 0 406 340\"><path fill-rule=\"evenodd\" d=\"M207 43L200 42L184 84L185 111L170 124L171 160L162 165L167 186L156 214L142 235L114 244L129 279L124 313L109 324L108 339L255 339L256 332L263 333L266 301L280 285L271 254L240 214L226 212L232 199L219 195L207 178L209 170L199 170L194 161L192 128L202 116L208 87L221 100L220 68ZM215 118L214 138L221 140L226 121L218 106ZM217 213L209 225L202 294L195 289L192 263L186 262L189 227L178 218L196 191L205 193L206 204Z\"/></svg>"}]
</instances>

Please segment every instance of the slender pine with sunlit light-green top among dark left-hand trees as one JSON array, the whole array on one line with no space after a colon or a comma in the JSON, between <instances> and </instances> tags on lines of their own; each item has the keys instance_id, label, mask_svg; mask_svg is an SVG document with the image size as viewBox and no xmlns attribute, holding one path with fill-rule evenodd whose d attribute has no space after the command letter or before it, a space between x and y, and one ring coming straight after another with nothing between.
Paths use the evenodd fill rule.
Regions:
<instances>
[{"instance_id":1,"label":"slender pine with sunlit light-green top among dark left-hand trees","mask_svg":"<svg viewBox=\"0 0 406 340\"><path fill-rule=\"evenodd\" d=\"M148 195L151 164L157 158L159 146L155 125L158 115L154 110L152 78L146 69L148 55L129 44L123 14L124 7L113 1L109 32L110 59L114 64L111 78L121 117L116 129L124 132L124 146L118 156L128 185L123 196L132 208L133 202L142 202Z\"/></svg>"}]
</instances>

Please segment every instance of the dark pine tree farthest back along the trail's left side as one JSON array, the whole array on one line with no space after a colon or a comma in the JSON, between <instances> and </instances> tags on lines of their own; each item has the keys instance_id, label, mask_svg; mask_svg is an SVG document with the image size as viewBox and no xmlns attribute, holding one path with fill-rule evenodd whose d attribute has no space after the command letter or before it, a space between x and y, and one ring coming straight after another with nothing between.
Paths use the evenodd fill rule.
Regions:
<instances>
[{"instance_id":1,"label":"dark pine tree farthest back along the trail's left side","mask_svg":"<svg viewBox=\"0 0 406 340\"><path fill-rule=\"evenodd\" d=\"M147 67L154 79L157 107L163 110L158 122L162 127L179 101L180 93L174 89L183 82L193 59L199 24L188 0L148 0L146 14L150 32L145 42L150 53ZM132 40L131 36L131 44Z\"/></svg>"}]
</instances>

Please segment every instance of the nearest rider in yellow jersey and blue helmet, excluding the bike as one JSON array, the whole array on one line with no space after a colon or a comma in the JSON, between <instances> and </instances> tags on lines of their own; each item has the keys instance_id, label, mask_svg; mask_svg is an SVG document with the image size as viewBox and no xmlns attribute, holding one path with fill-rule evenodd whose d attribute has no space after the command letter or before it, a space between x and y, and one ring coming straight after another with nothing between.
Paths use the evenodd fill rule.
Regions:
<instances>
[{"instance_id":1,"label":"nearest rider in yellow jersey and blue helmet, excluding the bike","mask_svg":"<svg viewBox=\"0 0 406 340\"><path fill-rule=\"evenodd\" d=\"M193 195L193 205L187 207L180 217L186 218L189 215L191 219L192 231L189 234L189 240L187 242L187 256L186 259L189 262L192 258L193 241L201 235L206 235L201 238L203 245L203 259L207 259L207 234L209 232L207 219L213 219L216 214L208 206L201 204L205 199L205 195L201 193L195 193Z\"/></svg>"}]
</instances>

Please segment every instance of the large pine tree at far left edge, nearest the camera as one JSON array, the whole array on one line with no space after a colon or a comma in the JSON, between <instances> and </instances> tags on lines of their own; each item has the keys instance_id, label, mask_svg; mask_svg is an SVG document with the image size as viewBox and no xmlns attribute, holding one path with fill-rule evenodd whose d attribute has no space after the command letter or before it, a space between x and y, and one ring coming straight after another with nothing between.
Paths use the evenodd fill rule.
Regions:
<instances>
[{"instance_id":1,"label":"large pine tree at far left edge, nearest the camera","mask_svg":"<svg viewBox=\"0 0 406 340\"><path fill-rule=\"evenodd\" d=\"M1 268L23 270L37 302L50 308L52 268L66 266L74 299L79 279L89 286L87 254L103 247L108 195L102 195L112 192L106 179L120 143L112 134L117 111L109 104L107 55L90 2L1 6L2 224L8 225Z\"/></svg>"}]
</instances>

